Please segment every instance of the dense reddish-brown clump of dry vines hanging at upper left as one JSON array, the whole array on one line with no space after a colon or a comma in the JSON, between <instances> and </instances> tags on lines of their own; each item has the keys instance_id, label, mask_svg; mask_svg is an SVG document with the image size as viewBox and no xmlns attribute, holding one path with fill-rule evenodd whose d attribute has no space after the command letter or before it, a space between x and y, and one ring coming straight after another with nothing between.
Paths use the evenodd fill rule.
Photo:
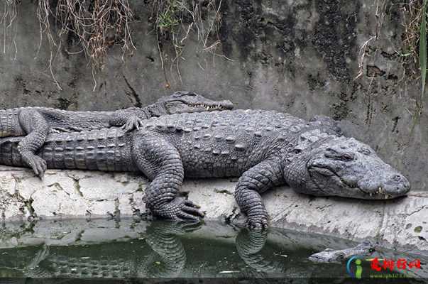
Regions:
<instances>
[{"instance_id":1,"label":"dense reddish-brown clump of dry vines hanging at upper left","mask_svg":"<svg viewBox=\"0 0 428 284\"><path fill-rule=\"evenodd\" d=\"M43 0L48 1L48 0ZM56 18L58 35L74 35L89 61L92 62L94 88L95 72L104 71L107 50L116 43L122 45L122 60L133 54L129 21L133 14L128 0L59 0ZM99 87L102 87L101 83ZM105 84L105 81L104 81Z\"/></svg>"}]
</instances>

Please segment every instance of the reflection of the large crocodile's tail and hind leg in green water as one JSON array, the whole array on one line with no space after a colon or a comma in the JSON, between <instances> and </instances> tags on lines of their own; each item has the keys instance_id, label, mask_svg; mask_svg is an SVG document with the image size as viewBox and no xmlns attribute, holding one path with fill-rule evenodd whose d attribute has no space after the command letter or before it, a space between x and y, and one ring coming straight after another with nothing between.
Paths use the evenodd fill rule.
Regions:
<instances>
[{"instance_id":1,"label":"reflection of the large crocodile's tail and hind leg in green water","mask_svg":"<svg viewBox=\"0 0 428 284\"><path fill-rule=\"evenodd\" d=\"M199 228L199 223L151 223L144 234L146 244L152 249L149 253L129 254L129 251L124 251L116 255L109 253L107 245L99 246L97 253L72 246L76 252L69 251L70 255L64 255L58 252L60 248L50 249L43 245L35 253L20 253L18 250L15 258L9 256L8 261L1 264L3 269L15 269L32 278L175 277L186 263L185 249L177 236Z\"/></svg>"}]
</instances>

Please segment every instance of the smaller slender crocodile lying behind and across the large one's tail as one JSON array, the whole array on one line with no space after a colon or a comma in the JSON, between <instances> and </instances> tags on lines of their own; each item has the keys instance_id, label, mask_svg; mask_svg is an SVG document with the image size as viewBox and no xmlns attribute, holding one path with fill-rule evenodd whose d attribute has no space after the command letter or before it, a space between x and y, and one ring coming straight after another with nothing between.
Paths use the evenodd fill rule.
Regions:
<instances>
[{"instance_id":1,"label":"smaller slender crocodile lying behind and across the large one's tail","mask_svg":"<svg viewBox=\"0 0 428 284\"><path fill-rule=\"evenodd\" d=\"M194 92L175 92L161 97L148 107L131 107L117 111L65 111L48 107L21 107L0 110L0 137L23 136L19 152L34 173L43 178L45 160L35 155L50 132L70 132L122 126L125 131L138 129L143 119L210 110L232 109L227 100L212 101Z\"/></svg>"}]
</instances>

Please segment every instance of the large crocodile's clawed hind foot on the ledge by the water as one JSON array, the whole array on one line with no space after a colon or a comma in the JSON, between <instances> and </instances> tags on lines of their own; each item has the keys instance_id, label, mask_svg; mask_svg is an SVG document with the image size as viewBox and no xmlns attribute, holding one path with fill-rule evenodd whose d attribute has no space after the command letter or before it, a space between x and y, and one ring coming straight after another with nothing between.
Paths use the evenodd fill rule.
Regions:
<instances>
[{"instance_id":1,"label":"large crocodile's clawed hind foot on the ledge by the water","mask_svg":"<svg viewBox=\"0 0 428 284\"><path fill-rule=\"evenodd\" d=\"M204 212L199 208L199 204L177 197L163 207L155 209L154 213L163 219L199 221L204 217Z\"/></svg>"}]
</instances>

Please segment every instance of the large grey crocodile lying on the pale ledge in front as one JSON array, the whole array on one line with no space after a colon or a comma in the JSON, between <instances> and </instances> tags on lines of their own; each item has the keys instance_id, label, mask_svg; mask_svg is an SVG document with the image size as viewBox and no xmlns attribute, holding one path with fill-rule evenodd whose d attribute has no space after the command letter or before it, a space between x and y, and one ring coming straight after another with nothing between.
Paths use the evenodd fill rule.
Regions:
<instances>
[{"instance_id":1,"label":"large grey crocodile lying on the pale ledge in front","mask_svg":"<svg viewBox=\"0 0 428 284\"><path fill-rule=\"evenodd\" d=\"M410 183L355 138L321 121L276 111L184 113L147 119L139 131L110 128L51 133L37 154L48 168L141 171L146 207L160 219L199 219L199 206L177 193L183 178L240 177L235 199L251 229L268 227L260 197L290 185L315 196L367 200L405 195ZM0 140L0 163L25 166L17 144Z\"/></svg>"}]
</instances>

